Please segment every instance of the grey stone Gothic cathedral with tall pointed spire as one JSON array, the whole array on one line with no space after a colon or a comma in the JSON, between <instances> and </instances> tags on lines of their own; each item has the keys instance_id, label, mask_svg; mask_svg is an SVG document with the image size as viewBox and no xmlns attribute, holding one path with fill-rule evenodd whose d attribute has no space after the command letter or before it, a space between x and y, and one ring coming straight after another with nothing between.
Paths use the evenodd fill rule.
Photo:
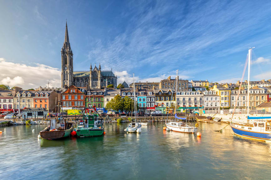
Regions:
<instances>
[{"instance_id":1,"label":"grey stone Gothic cathedral with tall pointed spire","mask_svg":"<svg viewBox=\"0 0 271 180\"><path fill-rule=\"evenodd\" d=\"M89 71L73 71L73 53L70 47L68 27L66 22L66 31L63 47L61 48L61 88L64 86L75 85L76 87L89 87L90 89L100 89L113 84L117 87L117 76L111 70L102 71L101 64L99 68L90 64Z\"/></svg>"}]
</instances>

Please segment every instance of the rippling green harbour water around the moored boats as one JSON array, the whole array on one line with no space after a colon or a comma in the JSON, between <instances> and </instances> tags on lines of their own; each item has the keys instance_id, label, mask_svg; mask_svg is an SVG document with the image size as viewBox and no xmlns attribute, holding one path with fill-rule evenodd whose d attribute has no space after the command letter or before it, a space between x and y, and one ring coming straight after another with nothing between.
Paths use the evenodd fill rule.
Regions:
<instances>
[{"instance_id":1,"label":"rippling green harbour water around the moored boats","mask_svg":"<svg viewBox=\"0 0 271 180\"><path fill-rule=\"evenodd\" d=\"M271 179L271 144L234 136L229 126L213 131L225 123L200 123L201 138L163 131L163 123L127 134L126 125L60 141L37 138L46 125L0 128L0 178Z\"/></svg>"}]
</instances>

